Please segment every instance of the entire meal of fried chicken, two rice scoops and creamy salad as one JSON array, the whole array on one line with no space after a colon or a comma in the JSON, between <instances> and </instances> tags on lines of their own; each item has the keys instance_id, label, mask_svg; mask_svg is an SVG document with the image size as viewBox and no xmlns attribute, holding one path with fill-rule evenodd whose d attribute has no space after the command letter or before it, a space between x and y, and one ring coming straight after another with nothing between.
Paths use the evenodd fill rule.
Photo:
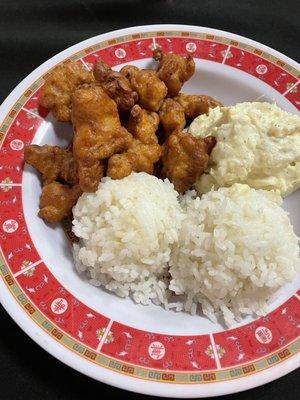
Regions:
<instances>
[{"instance_id":1,"label":"entire meal of fried chicken, two rice scoops and creamy salad","mask_svg":"<svg viewBox=\"0 0 300 400\"><path fill-rule=\"evenodd\" d=\"M263 315L300 270L280 207L300 187L300 117L181 93L193 59L153 55L157 71L100 60L49 74L41 104L74 137L25 148L42 174L39 216L73 212L76 268L96 286L228 326Z\"/></svg>"}]
</instances>

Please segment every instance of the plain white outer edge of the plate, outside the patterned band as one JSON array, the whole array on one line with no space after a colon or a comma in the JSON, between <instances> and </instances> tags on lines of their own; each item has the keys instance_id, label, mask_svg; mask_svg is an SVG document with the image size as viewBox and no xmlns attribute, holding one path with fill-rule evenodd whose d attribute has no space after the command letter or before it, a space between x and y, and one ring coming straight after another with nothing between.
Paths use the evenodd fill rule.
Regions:
<instances>
[{"instance_id":1,"label":"plain white outer edge of the plate, outside the patterned band","mask_svg":"<svg viewBox=\"0 0 300 400\"><path fill-rule=\"evenodd\" d=\"M6 98L6 100L2 103L0 107L0 122L5 118L5 114L8 112L11 106L18 101L20 95L24 92L25 89L29 87L33 83L33 81L37 80L37 76L40 77L42 71L48 71L49 68L56 65L57 63L64 60L66 57L71 56L76 50L77 52L80 49L84 49L87 46L91 46L93 44L103 42L104 40L109 40L116 38L119 35L124 34L133 34L137 32L171 32L172 30L177 30L180 32L192 32L192 33L204 33L211 35L221 35L227 39L237 40L242 43L248 44L250 46L254 46L262 51L267 52L281 60L284 60L285 63L292 66L294 69L298 69L299 65L290 59L289 57L284 56L272 48L262 45L256 41L251 39L247 39L240 35L231 34L230 32L220 31L216 29L197 27L197 26L189 26L189 25L177 25L177 24L165 24L165 25L145 25L145 26L137 26L130 27L121 30L112 31L109 33L101 34L94 36L93 38L82 41L78 44L75 44L72 47L60 52L54 57L50 58L48 61L43 63L41 66L36 68L31 74L29 74ZM295 85L299 83L299 73L297 75L297 81ZM4 117L4 118L3 118ZM152 395L167 395L173 397L199 397L199 396L216 396L220 394L228 394L234 393L241 390L246 390L251 387L255 387L261 385L263 383L267 383L271 380L277 379L280 376L292 371L300 365L300 354L295 354L291 358L286 359L285 361L280 362L266 370L262 370L257 372L254 377L252 375L242 376L241 378L230 380L230 385L227 389L224 390L224 384L228 381L220 381L210 383L209 385L205 385L203 383L197 384L194 383L192 385L183 384L183 383L161 383L157 381L145 381L141 382L140 379L137 379L132 376L118 374L111 370L105 368L99 368L96 365L91 364L88 360L81 358L76 355L76 353L71 352L64 348L61 344L54 340L50 335L45 334L43 331L25 312L20 312L20 306L17 304L13 296L10 296L10 291L4 284L4 282L0 279L0 301L3 304L4 308L8 311L8 313L12 316L12 318L19 324L19 326L29 335L31 336L41 347L43 347L50 354L54 355L56 358L66 363L67 365L77 369L78 371L89 375L95 379L101 379L101 381L120 387L125 388L131 391L136 391L140 393L147 393ZM9 295L8 295L9 294ZM101 371L101 372L100 372ZM209 370L208 370L209 371ZM100 377L99 377L100 375ZM142 386L140 384L142 383ZM160 384L159 384L160 383ZM175 388L175 389L174 389ZM200 394L199 394L200 392Z\"/></svg>"}]
</instances>

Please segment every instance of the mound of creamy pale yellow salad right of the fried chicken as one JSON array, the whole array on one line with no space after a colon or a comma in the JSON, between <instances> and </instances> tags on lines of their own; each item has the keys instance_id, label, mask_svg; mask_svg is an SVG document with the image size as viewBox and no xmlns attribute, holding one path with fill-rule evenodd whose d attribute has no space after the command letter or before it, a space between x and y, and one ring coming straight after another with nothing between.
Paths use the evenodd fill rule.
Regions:
<instances>
[{"instance_id":1,"label":"mound of creamy pale yellow salad right of the fried chicken","mask_svg":"<svg viewBox=\"0 0 300 400\"><path fill-rule=\"evenodd\" d=\"M300 117L270 103L240 103L210 109L190 126L195 137L215 136L211 160L196 188L236 182L278 190L282 196L300 187Z\"/></svg>"}]
</instances>

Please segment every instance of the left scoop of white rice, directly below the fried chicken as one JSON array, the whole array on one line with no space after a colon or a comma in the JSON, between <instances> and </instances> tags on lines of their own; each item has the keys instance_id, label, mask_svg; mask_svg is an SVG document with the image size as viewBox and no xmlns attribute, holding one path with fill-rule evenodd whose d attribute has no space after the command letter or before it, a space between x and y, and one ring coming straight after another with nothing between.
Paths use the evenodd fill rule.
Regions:
<instances>
[{"instance_id":1,"label":"left scoop of white rice, directly below the fried chicken","mask_svg":"<svg viewBox=\"0 0 300 400\"><path fill-rule=\"evenodd\" d=\"M168 261L183 213L168 181L146 173L103 178L73 208L75 264L94 285L142 304L166 304Z\"/></svg>"}]
</instances>

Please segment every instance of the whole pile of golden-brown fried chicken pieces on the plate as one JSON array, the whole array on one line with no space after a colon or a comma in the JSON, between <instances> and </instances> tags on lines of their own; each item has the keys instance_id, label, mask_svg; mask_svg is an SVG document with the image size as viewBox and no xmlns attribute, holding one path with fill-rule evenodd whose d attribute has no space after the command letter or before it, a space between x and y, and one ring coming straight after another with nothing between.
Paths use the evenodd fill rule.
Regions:
<instances>
[{"instance_id":1,"label":"whole pile of golden-brown fried chicken pieces on the plate","mask_svg":"<svg viewBox=\"0 0 300 400\"><path fill-rule=\"evenodd\" d=\"M183 193L207 168L216 139L182 130L187 120L221 103L180 93L195 71L191 56L156 49L153 57L156 71L127 65L117 72L103 61L87 71L68 60L47 74L40 104L57 120L71 122L74 138L67 149L25 148L25 161L42 174L39 216L45 221L68 217L79 196L96 191L105 175L155 172Z\"/></svg>"}]
</instances>

